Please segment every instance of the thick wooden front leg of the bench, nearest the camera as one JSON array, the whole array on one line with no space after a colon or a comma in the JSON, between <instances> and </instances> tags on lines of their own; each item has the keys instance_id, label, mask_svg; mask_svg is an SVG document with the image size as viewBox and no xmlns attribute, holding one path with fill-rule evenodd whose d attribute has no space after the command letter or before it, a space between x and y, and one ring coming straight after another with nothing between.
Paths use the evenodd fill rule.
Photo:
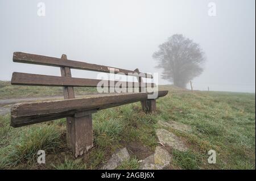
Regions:
<instances>
[{"instance_id":1,"label":"thick wooden front leg of the bench, nearest the camera","mask_svg":"<svg viewBox=\"0 0 256 181\"><path fill-rule=\"evenodd\" d=\"M67 118L67 143L75 157L93 147L92 113Z\"/></svg>"}]
</instances>

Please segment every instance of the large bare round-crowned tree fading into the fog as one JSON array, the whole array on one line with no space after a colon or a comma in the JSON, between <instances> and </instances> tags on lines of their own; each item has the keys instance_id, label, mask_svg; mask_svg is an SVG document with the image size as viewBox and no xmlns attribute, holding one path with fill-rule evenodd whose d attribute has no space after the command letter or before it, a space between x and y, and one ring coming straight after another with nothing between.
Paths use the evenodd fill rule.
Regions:
<instances>
[{"instance_id":1,"label":"large bare round-crowned tree fading into the fog","mask_svg":"<svg viewBox=\"0 0 256 181\"><path fill-rule=\"evenodd\" d=\"M156 68L163 69L162 78L182 88L203 72L201 65L206 60L200 45L180 34L159 45L153 58L158 61Z\"/></svg>"}]
</instances>

